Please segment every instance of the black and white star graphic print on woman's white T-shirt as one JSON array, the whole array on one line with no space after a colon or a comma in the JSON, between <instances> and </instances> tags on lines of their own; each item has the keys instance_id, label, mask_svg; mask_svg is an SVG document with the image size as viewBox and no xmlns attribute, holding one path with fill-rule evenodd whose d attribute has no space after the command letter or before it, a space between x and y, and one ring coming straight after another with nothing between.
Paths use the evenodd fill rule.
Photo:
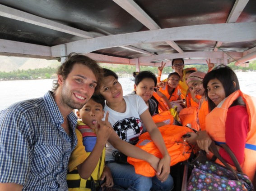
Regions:
<instances>
[{"instance_id":1,"label":"black and white star graphic print on woman's white T-shirt","mask_svg":"<svg viewBox=\"0 0 256 191\"><path fill-rule=\"evenodd\" d=\"M135 117L126 118L117 121L113 125L113 129L122 140L130 141L133 138L139 137L142 131L142 122L140 119Z\"/></svg>"}]
</instances>

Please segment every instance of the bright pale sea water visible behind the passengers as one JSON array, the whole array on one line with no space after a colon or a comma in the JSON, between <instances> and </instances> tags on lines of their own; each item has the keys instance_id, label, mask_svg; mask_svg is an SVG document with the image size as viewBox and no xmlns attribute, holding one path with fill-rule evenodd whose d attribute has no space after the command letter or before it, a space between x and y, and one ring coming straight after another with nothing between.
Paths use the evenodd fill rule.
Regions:
<instances>
[{"instance_id":1,"label":"bright pale sea water visible behind the passengers","mask_svg":"<svg viewBox=\"0 0 256 191\"><path fill-rule=\"evenodd\" d=\"M237 72L237 77L242 92L256 97L256 72ZM167 75L163 75L163 79ZM126 95L133 90L133 77L119 78ZM51 90L52 79L47 80L13 80L0 81L0 110L5 109L14 102L25 99L42 97Z\"/></svg>"}]
</instances>

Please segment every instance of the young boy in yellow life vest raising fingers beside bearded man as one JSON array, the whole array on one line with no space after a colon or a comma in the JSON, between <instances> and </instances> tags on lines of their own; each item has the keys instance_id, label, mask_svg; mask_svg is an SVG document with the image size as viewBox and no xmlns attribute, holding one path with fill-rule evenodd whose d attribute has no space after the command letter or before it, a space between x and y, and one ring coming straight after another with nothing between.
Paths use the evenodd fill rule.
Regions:
<instances>
[{"instance_id":1,"label":"young boy in yellow life vest raising fingers beside bearded man","mask_svg":"<svg viewBox=\"0 0 256 191\"><path fill-rule=\"evenodd\" d=\"M104 165L105 145L112 129L108 126L100 129L95 128L95 121L103 118L104 106L104 100L100 96L93 95L84 107L76 113L79 118L75 129L78 144L71 154L68 166L67 182L70 191L79 190L79 188L88 188L86 189L88 191L93 190L92 186L97 187L99 180L103 182L105 177L106 182L102 186L113 186L111 172ZM79 174L85 179L81 178Z\"/></svg>"}]
</instances>

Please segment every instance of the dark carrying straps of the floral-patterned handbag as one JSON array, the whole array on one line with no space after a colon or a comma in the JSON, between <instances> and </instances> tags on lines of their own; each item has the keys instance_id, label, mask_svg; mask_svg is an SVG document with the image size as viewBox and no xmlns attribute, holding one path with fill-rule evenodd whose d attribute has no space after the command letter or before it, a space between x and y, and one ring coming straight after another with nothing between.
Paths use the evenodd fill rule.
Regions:
<instances>
[{"instance_id":1,"label":"dark carrying straps of the floral-patterned handbag","mask_svg":"<svg viewBox=\"0 0 256 191\"><path fill-rule=\"evenodd\" d=\"M223 144L223 145L226 145L226 144ZM227 145L226 145L226 146L227 146ZM226 146L223 147L223 148L225 149L225 151L227 151L228 154L229 154L229 153L232 153L232 154L233 154L233 152L230 150L230 148L229 148L228 146L227 146L227 147L226 147ZM231 172L233 172L233 174L235 175L235 177L236 177L237 180L238 180L239 178L238 178L238 176L237 176L237 171L235 171L235 170L222 158L222 156L219 154L219 151L218 151L218 149L217 149L217 147L216 147L216 145L215 145L215 142L212 142L209 148L211 149L211 151L213 152L213 154L217 157L217 159L219 159L219 160L225 165L225 167L227 167L227 169L229 169ZM227 150L226 150L226 149L227 149ZM232 154L231 154L231 155L232 155ZM232 158L232 160L233 160L233 158L234 158L234 160L237 161L237 158L235 157L234 154L233 154L232 156L230 156L230 157ZM234 161L233 161L233 162L234 162ZM236 168L242 171L242 168L241 168L240 164L238 163L238 161L237 161L237 162L234 162L234 163L235 163L235 164L237 163L237 164L238 164L238 168L237 168L237 166L236 166ZM238 172L241 172L241 171L238 171ZM241 173L242 173L242 172L241 172Z\"/></svg>"}]
</instances>

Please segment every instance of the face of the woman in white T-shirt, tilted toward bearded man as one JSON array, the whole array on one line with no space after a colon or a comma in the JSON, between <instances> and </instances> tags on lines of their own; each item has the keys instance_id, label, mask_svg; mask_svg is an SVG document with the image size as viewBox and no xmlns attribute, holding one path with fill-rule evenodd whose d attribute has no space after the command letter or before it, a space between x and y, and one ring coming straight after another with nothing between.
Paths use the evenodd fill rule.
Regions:
<instances>
[{"instance_id":1,"label":"face of the woman in white T-shirt, tilted toward bearded man","mask_svg":"<svg viewBox=\"0 0 256 191\"><path fill-rule=\"evenodd\" d=\"M116 104L123 100L123 89L114 76L104 77L100 94L106 99L107 105Z\"/></svg>"}]
</instances>

